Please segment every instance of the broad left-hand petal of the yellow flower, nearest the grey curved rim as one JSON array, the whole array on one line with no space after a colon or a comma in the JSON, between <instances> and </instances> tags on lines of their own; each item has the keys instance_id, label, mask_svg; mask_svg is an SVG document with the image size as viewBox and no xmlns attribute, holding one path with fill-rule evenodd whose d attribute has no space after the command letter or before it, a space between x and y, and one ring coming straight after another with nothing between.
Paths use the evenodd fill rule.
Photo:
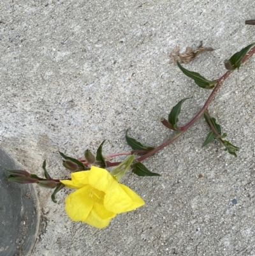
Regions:
<instances>
[{"instance_id":1,"label":"broad left-hand petal of the yellow flower, nearest the grey curved rim","mask_svg":"<svg viewBox=\"0 0 255 256\"><path fill-rule=\"evenodd\" d=\"M93 200L89 196L91 186L80 188L66 197L66 213L71 220L84 222L93 207Z\"/></svg>"}]
</instances>

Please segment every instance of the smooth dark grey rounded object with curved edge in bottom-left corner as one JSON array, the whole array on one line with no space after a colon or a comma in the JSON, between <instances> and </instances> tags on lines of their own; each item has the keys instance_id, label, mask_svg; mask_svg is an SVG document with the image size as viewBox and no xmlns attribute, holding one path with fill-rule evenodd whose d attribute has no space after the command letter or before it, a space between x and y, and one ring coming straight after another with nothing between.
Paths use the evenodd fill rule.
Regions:
<instances>
[{"instance_id":1,"label":"smooth dark grey rounded object with curved edge in bottom-left corner","mask_svg":"<svg viewBox=\"0 0 255 256\"><path fill-rule=\"evenodd\" d=\"M38 202L33 186L20 186L5 179L7 166L20 169L0 149L0 256L26 255L38 234Z\"/></svg>"}]
</instances>

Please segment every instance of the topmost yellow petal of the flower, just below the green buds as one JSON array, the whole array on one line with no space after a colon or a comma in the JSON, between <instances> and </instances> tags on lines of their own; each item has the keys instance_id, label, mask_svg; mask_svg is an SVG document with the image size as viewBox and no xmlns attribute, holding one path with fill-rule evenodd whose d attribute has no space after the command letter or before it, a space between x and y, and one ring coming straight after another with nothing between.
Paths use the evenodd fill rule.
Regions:
<instances>
[{"instance_id":1,"label":"topmost yellow petal of the flower, just below the green buds","mask_svg":"<svg viewBox=\"0 0 255 256\"><path fill-rule=\"evenodd\" d=\"M103 192L107 192L111 189L111 186L114 184L118 184L117 181L112 177L112 175L108 172L108 170L92 166L89 171L89 184L96 188L97 190L101 190Z\"/></svg>"}]
</instances>

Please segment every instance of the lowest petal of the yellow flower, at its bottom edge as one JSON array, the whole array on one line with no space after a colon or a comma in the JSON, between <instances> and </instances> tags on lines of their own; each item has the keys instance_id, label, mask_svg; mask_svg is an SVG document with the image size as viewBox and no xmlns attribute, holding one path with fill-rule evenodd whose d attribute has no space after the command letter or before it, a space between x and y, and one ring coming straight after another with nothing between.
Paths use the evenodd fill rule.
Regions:
<instances>
[{"instance_id":1,"label":"lowest petal of the yellow flower, at its bottom edge","mask_svg":"<svg viewBox=\"0 0 255 256\"><path fill-rule=\"evenodd\" d=\"M96 227L98 229L103 229L104 227L108 226L111 218L115 217L115 215L113 213L110 213L106 209L104 209L104 210L100 209L102 207L103 207L102 205L95 203L94 207L92 208L91 212L89 213L89 216L87 216L87 218L84 220L84 222L91 225L92 227ZM106 217L106 218L102 218L101 217L102 215L103 215L103 217ZM110 217L110 216L112 216L112 217Z\"/></svg>"}]
</instances>

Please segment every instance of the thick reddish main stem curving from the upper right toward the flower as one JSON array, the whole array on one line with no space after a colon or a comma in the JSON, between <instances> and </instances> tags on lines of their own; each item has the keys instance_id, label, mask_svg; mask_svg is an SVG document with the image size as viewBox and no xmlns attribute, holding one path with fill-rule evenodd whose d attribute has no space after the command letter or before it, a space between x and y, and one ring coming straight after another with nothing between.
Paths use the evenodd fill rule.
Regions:
<instances>
[{"instance_id":1,"label":"thick reddish main stem curving from the upper right toward the flower","mask_svg":"<svg viewBox=\"0 0 255 256\"><path fill-rule=\"evenodd\" d=\"M247 61L247 59L249 59L249 57L252 56L252 54L254 54L255 52L255 47L252 47L251 50L249 50L249 52L247 52L247 54L245 55L244 59L242 59L242 63L244 63L245 61ZM187 129L189 127L191 127L200 117L201 115L205 112L205 110L207 110L208 106L210 105L210 103L212 102L212 99L214 98L215 94L217 93L217 91L219 91L219 88L222 86L224 80L233 72L234 70L229 70L226 73L224 73L224 75L222 75L221 78L217 79L218 82L216 84L216 86L214 87L214 90L212 91L212 93L210 94L210 96L208 97L207 101L205 102L205 104L203 105L203 107L200 109L200 111L198 112L198 114L196 114L196 116L193 117L193 119L191 119L191 121L189 121L189 123L185 124L184 126L180 126L179 127L179 133L177 133L174 137L172 137L171 139L167 140L166 142L164 142L162 145L156 147L155 149L152 149L152 151L150 151L147 154L144 154L143 156L140 156L140 158L136 159L136 162L142 162L143 160L145 160L146 158L152 156L153 154L157 153L157 151L163 149L164 147L168 146L169 144L171 144L171 142L173 142L173 140L177 139L182 133L186 132Z\"/></svg>"}]
</instances>

